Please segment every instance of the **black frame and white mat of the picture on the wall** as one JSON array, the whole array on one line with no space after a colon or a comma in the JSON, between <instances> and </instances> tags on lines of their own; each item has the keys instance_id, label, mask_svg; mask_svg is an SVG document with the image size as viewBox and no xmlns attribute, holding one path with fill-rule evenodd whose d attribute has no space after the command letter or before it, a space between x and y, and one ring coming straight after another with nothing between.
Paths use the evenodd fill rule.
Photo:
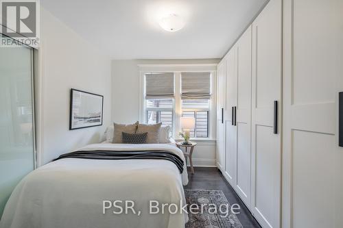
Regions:
<instances>
[{"instance_id":1,"label":"black frame and white mat of the picture on the wall","mask_svg":"<svg viewBox=\"0 0 343 228\"><path fill-rule=\"evenodd\" d=\"M99 107L99 112L101 112L101 114L99 114L99 124L97 124L97 118L98 116L80 116L79 119L81 120L79 123L79 126L75 126L75 116L73 114L73 110L74 110L74 93L78 92L80 94L84 94L86 96L94 96L94 97L98 97L99 99L101 99L101 101L99 101L99 105L101 105L101 107ZM82 104L81 104L82 105ZM75 130L75 129L82 129L82 128L86 128L86 127L97 127L97 126L101 126L103 124L103 118L104 118L104 96L100 95L100 94L95 94L93 92L86 92L84 90L78 90L75 88L71 88L70 90L70 112L69 112L69 130ZM86 123L82 123L82 120L84 122L87 122L86 119L88 119L89 125L86 125ZM95 121L95 124L94 124ZM92 123L93 122L93 123Z\"/></svg>"}]
</instances>

